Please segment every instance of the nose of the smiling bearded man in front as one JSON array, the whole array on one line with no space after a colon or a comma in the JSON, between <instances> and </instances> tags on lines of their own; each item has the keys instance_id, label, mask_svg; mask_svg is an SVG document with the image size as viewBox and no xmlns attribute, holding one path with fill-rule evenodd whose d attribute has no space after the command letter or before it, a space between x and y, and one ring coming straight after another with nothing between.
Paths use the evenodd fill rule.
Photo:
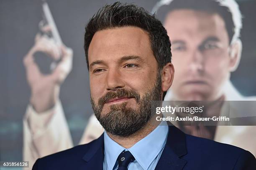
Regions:
<instances>
[{"instance_id":1,"label":"nose of the smiling bearded man in front","mask_svg":"<svg viewBox=\"0 0 256 170\"><path fill-rule=\"evenodd\" d=\"M107 84L106 89L116 91L117 89L123 88L125 86L122 75L120 71L117 69L110 69L108 70L107 74Z\"/></svg>"}]
</instances>

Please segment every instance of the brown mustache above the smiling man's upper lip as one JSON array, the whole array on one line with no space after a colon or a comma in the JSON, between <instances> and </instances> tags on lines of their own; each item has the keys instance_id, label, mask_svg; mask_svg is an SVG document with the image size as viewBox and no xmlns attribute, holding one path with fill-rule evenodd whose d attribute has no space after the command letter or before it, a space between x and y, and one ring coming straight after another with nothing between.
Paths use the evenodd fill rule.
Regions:
<instances>
[{"instance_id":1,"label":"brown mustache above the smiling man's upper lip","mask_svg":"<svg viewBox=\"0 0 256 170\"><path fill-rule=\"evenodd\" d=\"M140 94L138 94L137 91L131 89L118 89L117 91L109 91L104 94L99 99L98 106L103 106L109 100L121 97L134 98L137 103L140 101Z\"/></svg>"}]
</instances>

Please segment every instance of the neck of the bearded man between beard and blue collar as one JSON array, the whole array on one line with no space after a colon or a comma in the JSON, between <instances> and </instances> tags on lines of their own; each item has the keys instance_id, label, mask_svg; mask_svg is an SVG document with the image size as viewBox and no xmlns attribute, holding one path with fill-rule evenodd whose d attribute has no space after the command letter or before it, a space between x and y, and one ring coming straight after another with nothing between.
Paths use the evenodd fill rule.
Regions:
<instances>
[{"instance_id":1,"label":"neck of the bearded man between beard and blue collar","mask_svg":"<svg viewBox=\"0 0 256 170\"><path fill-rule=\"evenodd\" d=\"M122 147L130 148L134 144L136 144L138 141L146 137L148 134L150 134L154 129L156 129L156 127L160 124L159 121L156 121L156 116L160 116L160 115L154 115L153 117L151 117L151 119L148 121L148 123L145 126L143 126L137 132L135 132L134 134L131 134L128 137L121 137L118 135L110 134L108 132L107 134L112 140L117 142Z\"/></svg>"}]
</instances>

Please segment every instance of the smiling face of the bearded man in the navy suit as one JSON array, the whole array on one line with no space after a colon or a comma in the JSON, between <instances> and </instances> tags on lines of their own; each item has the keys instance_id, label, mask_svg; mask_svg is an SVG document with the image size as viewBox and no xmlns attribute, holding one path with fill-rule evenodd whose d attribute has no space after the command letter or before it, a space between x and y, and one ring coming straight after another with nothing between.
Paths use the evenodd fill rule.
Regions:
<instances>
[{"instance_id":1,"label":"smiling face of the bearded man in the navy suit","mask_svg":"<svg viewBox=\"0 0 256 170\"><path fill-rule=\"evenodd\" d=\"M151 118L161 99L161 76L148 34L137 27L100 30L88 51L91 101L111 134L128 136Z\"/></svg>"}]
</instances>

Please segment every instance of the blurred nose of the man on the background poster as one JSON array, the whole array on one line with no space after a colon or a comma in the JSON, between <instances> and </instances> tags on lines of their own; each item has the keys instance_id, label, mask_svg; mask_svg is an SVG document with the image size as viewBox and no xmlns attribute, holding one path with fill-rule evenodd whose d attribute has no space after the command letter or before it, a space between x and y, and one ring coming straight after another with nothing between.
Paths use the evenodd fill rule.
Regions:
<instances>
[{"instance_id":1,"label":"blurred nose of the man on the background poster","mask_svg":"<svg viewBox=\"0 0 256 170\"><path fill-rule=\"evenodd\" d=\"M191 53L189 70L200 74L205 71L205 58L199 50L195 50Z\"/></svg>"}]
</instances>

